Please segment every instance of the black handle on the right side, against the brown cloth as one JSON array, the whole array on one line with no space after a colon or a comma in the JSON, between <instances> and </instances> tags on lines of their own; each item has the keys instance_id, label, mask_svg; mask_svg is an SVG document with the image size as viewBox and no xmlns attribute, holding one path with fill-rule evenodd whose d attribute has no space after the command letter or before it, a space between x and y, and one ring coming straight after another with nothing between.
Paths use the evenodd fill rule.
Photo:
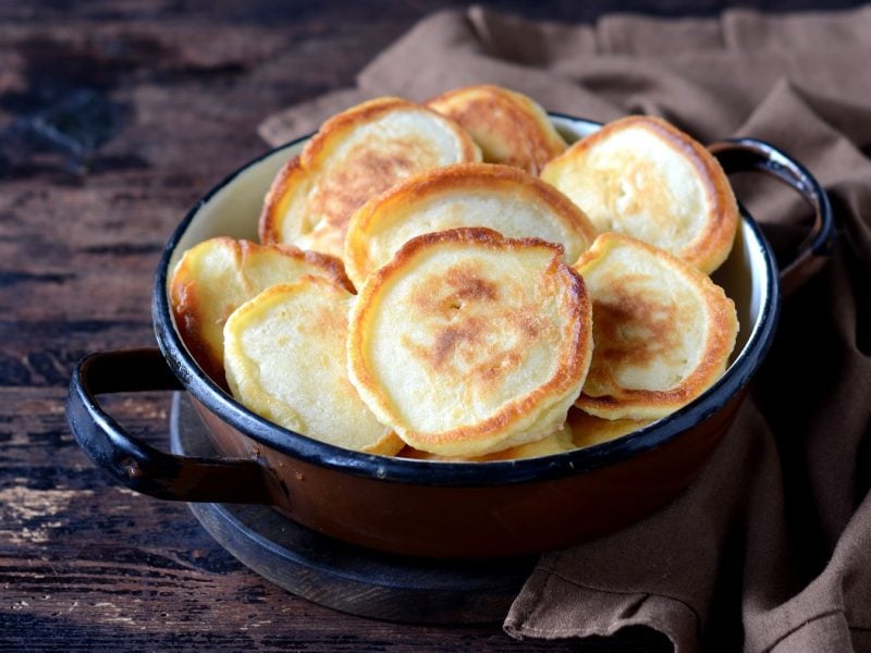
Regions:
<instances>
[{"instance_id":1,"label":"black handle on the right side, against the brown cloth","mask_svg":"<svg viewBox=\"0 0 871 653\"><path fill-rule=\"evenodd\" d=\"M820 183L798 161L776 147L757 138L734 138L708 146L726 174L764 172L797 190L814 211L813 226L792 260L781 269L781 286L785 293L810 279L832 252L835 225L832 206Z\"/></svg>"}]
</instances>

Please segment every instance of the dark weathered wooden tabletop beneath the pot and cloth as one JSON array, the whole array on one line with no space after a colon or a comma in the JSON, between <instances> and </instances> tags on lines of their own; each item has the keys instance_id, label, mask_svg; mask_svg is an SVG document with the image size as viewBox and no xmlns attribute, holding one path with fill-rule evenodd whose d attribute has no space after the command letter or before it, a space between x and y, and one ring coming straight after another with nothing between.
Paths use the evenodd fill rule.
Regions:
<instances>
[{"instance_id":1,"label":"dark weathered wooden tabletop beneath the pot and cloth","mask_svg":"<svg viewBox=\"0 0 871 653\"><path fill-rule=\"evenodd\" d=\"M498 625L364 619L289 594L236 562L187 506L108 481L64 416L78 358L154 343L163 244L199 195L263 151L256 125L351 85L415 21L459 4L0 3L0 649L576 650L515 642ZM648 3L494 4L589 21ZM111 406L167 448L170 402L147 393ZM648 650L639 639L621 650Z\"/></svg>"}]
</instances>

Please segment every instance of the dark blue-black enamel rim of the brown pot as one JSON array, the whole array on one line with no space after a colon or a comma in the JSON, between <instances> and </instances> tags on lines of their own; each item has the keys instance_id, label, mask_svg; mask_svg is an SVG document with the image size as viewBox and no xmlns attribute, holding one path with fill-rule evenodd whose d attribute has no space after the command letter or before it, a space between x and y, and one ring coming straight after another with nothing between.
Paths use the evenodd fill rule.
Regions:
<instances>
[{"instance_id":1,"label":"dark blue-black enamel rim of the brown pot","mask_svg":"<svg viewBox=\"0 0 871 653\"><path fill-rule=\"evenodd\" d=\"M563 113L550 113L575 125L601 123ZM750 381L771 347L780 315L778 269L759 225L740 205L741 223L753 235L764 261L765 279L760 315L741 352L721 378L679 410L638 431L589 447L518 460L487 463L433 461L387 457L345 449L280 427L248 410L209 379L196 364L175 330L167 284L169 264L182 236L198 211L221 189L273 153L308 139L310 135L271 148L226 175L187 211L163 249L152 288L151 312L158 346L170 369L187 392L219 418L252 440L306 463L383 481L419 485L478 486L545 481L585 473L641 455L688 431L722 409Z\"/></svg>"}]
</instances>

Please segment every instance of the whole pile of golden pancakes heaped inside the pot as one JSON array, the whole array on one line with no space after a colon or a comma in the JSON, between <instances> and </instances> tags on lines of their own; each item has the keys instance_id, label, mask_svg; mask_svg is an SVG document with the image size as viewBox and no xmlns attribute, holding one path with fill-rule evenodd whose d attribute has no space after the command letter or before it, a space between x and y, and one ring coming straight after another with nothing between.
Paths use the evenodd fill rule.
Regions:
<instances>
[{"instance_id":1,"label":"whole pile of golden pancakes heaped inside the pot","mask_svg":"<svg viewBox=\"0 0 871 653\"><path fill-rule=\"evenodd\" d=\"M170 284L203 369L255 412L356 451L504 460L630 433L725 370L709 274L738 211L720 165L629 116L567 145L492 85L329 121Z\"/></svg>"}]
</instances>

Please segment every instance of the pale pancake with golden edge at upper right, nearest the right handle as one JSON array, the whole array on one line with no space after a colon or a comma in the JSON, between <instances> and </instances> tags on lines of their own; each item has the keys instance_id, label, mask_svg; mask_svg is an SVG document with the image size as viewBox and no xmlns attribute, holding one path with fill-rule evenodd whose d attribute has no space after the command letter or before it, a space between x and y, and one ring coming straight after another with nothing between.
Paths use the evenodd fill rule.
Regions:
<instances>
[{"instance_id":1,"label":"pale pancake with golden edge at upper right, nearest the right handle","mask_svg":"<svg viewBox=\"0 0 871 653\"><path fill-rule=\"evenodd\" d=\"M663 120L608 123L548 163L541 178L600 232L635 236L702 272L732 249L738 207L728 178L707 149Z\"/></svg>"}]
</instances>

